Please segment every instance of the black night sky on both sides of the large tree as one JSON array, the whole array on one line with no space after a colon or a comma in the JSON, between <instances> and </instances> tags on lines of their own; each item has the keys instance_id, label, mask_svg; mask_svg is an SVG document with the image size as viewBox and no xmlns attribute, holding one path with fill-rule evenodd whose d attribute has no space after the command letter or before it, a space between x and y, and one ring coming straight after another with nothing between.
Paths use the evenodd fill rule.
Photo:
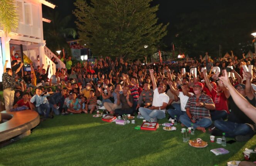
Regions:
<instances>
[{"instance_id":1,"label":"black night sky on both sides of the large tree","mask_svg":"<svg viewBox=\"0 0 256 166\"><path fill-rule=\"evenodd\" d=\"M75 0L48 0L49 2L54 3L57 7L54 9L58 11L63 17L66 15L72 15L72 10L74 10L74 2ZM168 26L168 34L163 38L163 41L168 47L171 45L173 38L175 38L175 34L177 34L177 29L175 25L180 23L180 17L183 14L189 14L193 12L200 11L211 12L214 15L219 9L224 9L227 11L227 15L232 12L251 12L252 14L256 13L256 0L153 0L152 6L159 4L159 10L157 12L157 17L159 18L159 23L170 23ZM53 10L52 8L45 7L43 5L43 16L47 18L47 11ZM74 20L76 19L73 15ZM227 17L228 18L228 17ZM256 14L255 14L256 18ZM218 18L216 18L218 19ZM228 18L228 19L236 19L236 18ZM256 20L256 19L255 19ZM244 20L237 20L237 24L242 24L244 26L250 24L251 22L255 22L255 20L248 20L244 18ZM196 24L196 22L195 22ZM76 28L74 21L70 22L70 27ZM230 25L232 26L236 25ZM255 28L251 28L251 31L256 31ZM248 32L248 37L252 32Z\"/></svg>"}]
</instances>

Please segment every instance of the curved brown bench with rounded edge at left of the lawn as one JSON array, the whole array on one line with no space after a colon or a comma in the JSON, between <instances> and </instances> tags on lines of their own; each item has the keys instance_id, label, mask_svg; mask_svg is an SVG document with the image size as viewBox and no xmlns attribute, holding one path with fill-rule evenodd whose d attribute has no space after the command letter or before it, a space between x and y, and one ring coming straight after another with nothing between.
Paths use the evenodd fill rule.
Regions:
<instances>
[{"instance_id":1,"label":"curved brown bench with rounded edge at left of the lawn","mask_svg":"<svg viewBox=\"0 0 256 166\"><path fill-rule=\"evenodd\" d=\"M2 120L8 120L0 124L0 142L16 136L20 138L27 136L30 134L30 129L40 123L40 116L36 111L2 111L0 114Z\"/></svg>"}]
</instances>

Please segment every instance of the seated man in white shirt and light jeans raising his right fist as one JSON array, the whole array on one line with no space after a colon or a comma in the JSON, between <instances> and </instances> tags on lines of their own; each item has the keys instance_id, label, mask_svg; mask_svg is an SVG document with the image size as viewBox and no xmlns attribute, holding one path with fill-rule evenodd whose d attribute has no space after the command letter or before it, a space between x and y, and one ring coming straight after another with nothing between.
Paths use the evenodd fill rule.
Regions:
<instances>
[{"instance_id":1,"label":"seated man in white shirt and light jeans raising his right fist","mask_svg":"<svg viewBox=\"0 0 256 166\"><path fill-rule=\"evenodd\" d=\"M165 108L169 102L169 96L165 94L166 86L165 84L161 83L158 88L155 82L155 77L153 75L154 70L150 69L150 78L153 83L153 103L152 107L144 108L140 107L139 111L141 116L147 121L157 122L157 119L165 118Z\"/></svg>"}]
</instances>

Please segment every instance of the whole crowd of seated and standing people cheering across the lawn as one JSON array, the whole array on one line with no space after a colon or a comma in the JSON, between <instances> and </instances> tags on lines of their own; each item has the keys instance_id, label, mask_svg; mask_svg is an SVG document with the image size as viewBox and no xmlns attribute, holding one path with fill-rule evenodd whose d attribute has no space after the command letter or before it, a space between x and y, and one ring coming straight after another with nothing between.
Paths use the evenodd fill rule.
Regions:
<instances>
[{"instance_id":1,"label":"whole crowd of seated and standing people cheering across the lawn","mask_svg":"<svg viewBox=\"0 0 256 166\"><path fill-rule=\"evenodd\" d=\"M202 132L225 132L237 141L248 141L256 131L255 114L248 111L248 106L253 110L256 105L256 72L244 71L242 66L255 64L256 58L231 55L148 64L108 56L94 63L73 64L72 57L64 55L59 58L66 68L57 69L48 78L49 66L40 66L39 59L22 75L23 63L15 53L12 68L6 68L5 61L2 76L5 109L37 111L42 120L54 114L92 114L99 107L111 115L140 112L137 118L147 121L167 116ZM212 71L215 66L221 72ZM196 68L197 74L190 73L191 68ZM241 101L243 104L237 104Z\"/></svg>"}]
</instances>

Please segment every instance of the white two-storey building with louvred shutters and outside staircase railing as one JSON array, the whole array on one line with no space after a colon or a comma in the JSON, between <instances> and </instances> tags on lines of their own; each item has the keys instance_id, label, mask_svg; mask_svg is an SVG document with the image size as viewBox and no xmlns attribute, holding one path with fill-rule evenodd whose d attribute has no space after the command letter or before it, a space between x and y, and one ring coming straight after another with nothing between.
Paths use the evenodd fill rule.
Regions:
<instances>
[{"instance_id":1,"label":"white two-storey building with louvred shutters and outside staircase railing","mask_svg":"<svg viewBox=\"0 0 256 166\"><path fill-rule=\"evenodd\" d=\"M55 8L55 5L46 0L13 1L17 7L19 25L8 36L5 36L3 27L0 27L0 81L2 81L5 60L9 60L7 67L10 68L11 66L10 50L12 46L15 47L13 55L14 53L19 53L20 56L20 45L22 45L24 55L28 56L31 61L35 61L37 55L39 55L40 65L44 64L44 68L47 69L47 65L50 64L51 67L48 76L50 78L56 71L56 64L51 61L52 56L59 62L57 67L65 68L65 64L45 46L46 41L44 40L43 34L43 21L49 23L51 20L43 18L42 4L51 8Z\"/></svg>"}]
</instances>

